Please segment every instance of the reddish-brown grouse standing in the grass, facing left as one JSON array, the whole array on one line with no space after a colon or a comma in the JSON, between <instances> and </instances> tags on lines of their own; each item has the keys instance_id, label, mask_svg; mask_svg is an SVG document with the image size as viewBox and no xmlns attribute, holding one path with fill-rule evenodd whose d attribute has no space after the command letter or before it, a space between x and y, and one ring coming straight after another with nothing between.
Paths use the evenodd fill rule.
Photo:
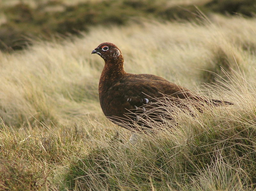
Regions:
<instances>
[{"instance_id":1,"label":"reddish-brown grouse standing in the grass, facing left","mask_svg":"<svg viewBox=\"0 0 256 191\"><path fill-rule=\"evenodd\" d=\"M92 54L98 54L105 61L99 81L99 100L104 115L114 124L132 132L152 128L147 120L163 121L166 111L161 107L163 102L159 101L163 97L183 109L186 108L186 104L181 102L184 99L198 102L199 105L233 104L215 99L209 101L187 88L153 74L126 73L121 50L113 43L101 43L92 50ZM197 109L200 111L200 107Z\"/></svg>"}]
</instances>

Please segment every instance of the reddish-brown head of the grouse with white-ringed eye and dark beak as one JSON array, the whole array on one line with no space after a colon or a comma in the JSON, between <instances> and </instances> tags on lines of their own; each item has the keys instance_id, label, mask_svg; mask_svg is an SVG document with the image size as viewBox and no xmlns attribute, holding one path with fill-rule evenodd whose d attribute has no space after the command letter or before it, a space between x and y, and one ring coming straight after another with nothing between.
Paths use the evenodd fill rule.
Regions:
<instances>
[{"instance_id":1,"label":"reddish-brown head of the grouse with white-ringed eye and dark beak","mask_svg":"<svg viewBox=\"0 0 256 191\"><path fill-rule=\"evenodd\" d=\"M121 51L110 42L101 43L96 49L92 50L92 54L100 55L105 61L122 58Z\"/></svg>"}]
</instances>

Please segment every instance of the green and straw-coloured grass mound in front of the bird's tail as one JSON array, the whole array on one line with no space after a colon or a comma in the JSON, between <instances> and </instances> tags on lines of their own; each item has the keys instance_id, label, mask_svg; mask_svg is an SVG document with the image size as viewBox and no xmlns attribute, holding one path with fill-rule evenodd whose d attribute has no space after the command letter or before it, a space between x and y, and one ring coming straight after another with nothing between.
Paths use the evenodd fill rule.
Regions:
<instances>
[{"instance_id":1,"label":"green and straw-coloured grass mound in front of the bird's tail","mask_svg":"<svg viewBox=\"0 0 256 191\"><path fill-rule=\"evenodd\" d=\"M97 138L88 154L71 162L64 185L79 190L253 190L255 112L245 96L255 97L251 88L233 92L233 98L244 97L246 109L238 103L205 106L192 117L170 104L165 109L175 108L176 125L168 119L161 126L151 123L154 134L138 135L133 144L127 143L127 134Z\"/></svg>"}]
</instances>

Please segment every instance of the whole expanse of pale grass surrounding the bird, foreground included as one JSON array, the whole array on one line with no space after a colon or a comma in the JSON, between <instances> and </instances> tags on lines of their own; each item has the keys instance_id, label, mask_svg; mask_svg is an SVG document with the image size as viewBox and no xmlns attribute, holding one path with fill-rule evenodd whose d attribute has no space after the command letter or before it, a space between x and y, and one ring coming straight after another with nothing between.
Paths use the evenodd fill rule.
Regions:
<instances>
[{"instance_id":1,"label":"whole expanse of pale grass surrounding the bird, foreground included","mask_svg":"<svg viewBox=\"0 0 256 191\"><path fill-rule=\"evenodd\" d=\"M255 190L255 31L254 18L144 19L1 52L0 189ZM234 105L190 106L194 117L176 108L175 126L152 123L155 134L129 141L98 102L101 42L121 49L129 73Z\"/></svg>"}]
</instances>

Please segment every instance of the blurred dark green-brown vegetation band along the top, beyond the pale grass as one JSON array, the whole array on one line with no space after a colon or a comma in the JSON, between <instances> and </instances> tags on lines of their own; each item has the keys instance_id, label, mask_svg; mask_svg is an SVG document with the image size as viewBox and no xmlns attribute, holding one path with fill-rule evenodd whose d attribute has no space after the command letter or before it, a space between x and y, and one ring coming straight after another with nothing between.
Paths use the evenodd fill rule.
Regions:
<instances>
[{"instance_id":1,"label":"blurred dark green-brown vegetation band along the top, beyond the pale grass","mask_svg":"<svg viewBox=\"0 0 256 191\"><path fill-rule=\"evenodd\" d=\"M0 50L21 50L32 44L32 39L72 38L71 34L80 36L91 26L129 25L141 18L201 21L199 10L209 18L213 12L245 17L256 13L253 0L3 0Z\"/></svg>"}]
</instances>

